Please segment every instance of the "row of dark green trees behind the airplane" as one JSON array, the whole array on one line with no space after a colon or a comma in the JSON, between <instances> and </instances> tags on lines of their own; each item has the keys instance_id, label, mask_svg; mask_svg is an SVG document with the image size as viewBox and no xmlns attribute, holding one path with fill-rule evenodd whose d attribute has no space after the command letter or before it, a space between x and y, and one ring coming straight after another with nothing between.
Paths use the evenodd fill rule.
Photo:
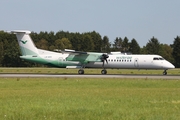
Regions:
<instances>
[{"instance_id":1,"label":"row of dark green trees behind the airplane","mask_svg":"<svg viewBox=\"0 0 180 120\"><path fill-rule=\"evenodd\" d=\"M31 33L35 45L45 50L74 49L77 51L110 52L121 51L132 54L159 54L176 67L180 67L180 37L174 39L171 45L159 43L158 39L152 37L142 48L136 39L129 40L127 37L117 37L111 43L107 36L95 31L86 33L70 33L59 31ZM22 61L16 36L0 31L0 66L22 67L39 66L35 63Z\"/></svg>"}]
</instances>

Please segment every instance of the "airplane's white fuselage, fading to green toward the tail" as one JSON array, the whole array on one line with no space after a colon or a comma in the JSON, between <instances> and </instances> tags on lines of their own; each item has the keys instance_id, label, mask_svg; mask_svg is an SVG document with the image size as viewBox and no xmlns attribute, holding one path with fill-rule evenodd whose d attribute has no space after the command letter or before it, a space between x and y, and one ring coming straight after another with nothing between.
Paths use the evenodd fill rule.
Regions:
<instances>
[{"instance_id":1,"label":"airplane's white fuselage, fading to green toward the tail","mask_svg":"<svg viewBox=\"0 0 180 120\"><path fill-rule=\"evenodd\" d=\"M56 67L64 67L64 68L81 68L82 66L85 68L102 68L103 62L100 60L95 62L88 62L87 64L82 64L79 61L67 61L66 58L69 54L62 53L54 53L45 50L39 50L41 53L39 57L43 60L47 65L52 65ZM114 68L114 69L172 69L175 68L167 60L163 59L159 55L124 55L124 54L116 54L116 55L108 55L107 62L104 62L105 68ZM24 58L25 57L21 57ZM29 59L29 57L28 57ZM26 59L26 60L28 60ZM39 58L38 58L39 59ZM42 61L41 60L41 61ZM36 58L31 60L32 62L37 62ZM39 63L41 63L41 61ZM72 67L74 66L74 67Z\"/></svg>"}]
</instances>

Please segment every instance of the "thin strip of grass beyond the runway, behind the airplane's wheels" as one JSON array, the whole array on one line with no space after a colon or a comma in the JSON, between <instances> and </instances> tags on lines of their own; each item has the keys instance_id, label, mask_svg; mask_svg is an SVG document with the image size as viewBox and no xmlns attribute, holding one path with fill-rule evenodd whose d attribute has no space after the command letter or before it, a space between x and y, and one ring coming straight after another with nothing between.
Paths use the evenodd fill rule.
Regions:
<instances>
[{"instance_id":1,"label":"thin strip of grass beyond the runway, behind the airplane's wheels","mask_svg":"<svg viewBox=\"0 0 180 120\"><path fill-rule=\"evenodd\" d=\"M0 68L1 73L47 73L47 74L78 74L79 69L66 68ZM101 69L84 69L85 74L101 74ZM107 69L107 74L159 74L163 70ZM170 69L168 75L180 75L180 69Z\"/></svg>"}]
</instances>

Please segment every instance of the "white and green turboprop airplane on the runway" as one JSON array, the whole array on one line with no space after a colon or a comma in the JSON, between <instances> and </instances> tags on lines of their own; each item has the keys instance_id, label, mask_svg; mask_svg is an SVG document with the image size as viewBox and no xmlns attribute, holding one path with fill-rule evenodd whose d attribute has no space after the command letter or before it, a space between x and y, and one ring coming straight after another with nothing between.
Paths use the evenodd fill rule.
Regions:
<instances>
[{"instance_id":1,"label":"white and green turboprop airplane on the runway","mask_svg":"<svg viewBox=\"0 0 180 120\"><path fill-rule=\"evenodd\" d=\"M159 55L128 55L120 52L96 53L65 49L53 52L36 48L30 31L14 30L22 56L21 59L59 68L79 68L78 73L84 74L84 68L102 68L101 74L107 74L106 68L114 69L162 69L163 75L168 69L175 68L170 62Z\"/></svg>"}]
</instances>

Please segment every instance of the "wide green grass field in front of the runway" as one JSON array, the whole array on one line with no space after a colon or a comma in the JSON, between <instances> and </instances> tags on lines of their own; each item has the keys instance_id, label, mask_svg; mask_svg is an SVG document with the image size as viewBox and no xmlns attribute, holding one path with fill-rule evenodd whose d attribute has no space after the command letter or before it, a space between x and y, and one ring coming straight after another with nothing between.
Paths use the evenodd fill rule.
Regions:
<instances>
[{"instance_id":1,"label":"wide green grass field in front of the runway","mask_svg":"<svg viewBox=\"0 0 180 120\"><path fill-rule=\"evenodd\" d=\"M180 81L0 78L0 119L178 120Z\"/></svg>"}]
</instances>

